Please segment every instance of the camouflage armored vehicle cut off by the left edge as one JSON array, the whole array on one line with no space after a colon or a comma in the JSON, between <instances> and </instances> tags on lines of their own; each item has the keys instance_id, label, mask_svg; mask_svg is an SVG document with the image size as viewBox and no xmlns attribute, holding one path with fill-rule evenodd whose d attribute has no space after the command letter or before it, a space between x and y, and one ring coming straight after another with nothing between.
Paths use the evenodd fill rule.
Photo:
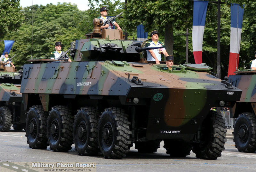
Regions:
<instances>
[{"instance_id":1,"label":"camouflage armored vehicle cut off by the left edge","mask_svg":"<svg viewBox=\"0 0 256 172\"><path fill-rule=\"evenodd\" d=\"M0 131L25 129L26 112L20 93L21 73L0 61Z\"/></svg>"}]
</instances>

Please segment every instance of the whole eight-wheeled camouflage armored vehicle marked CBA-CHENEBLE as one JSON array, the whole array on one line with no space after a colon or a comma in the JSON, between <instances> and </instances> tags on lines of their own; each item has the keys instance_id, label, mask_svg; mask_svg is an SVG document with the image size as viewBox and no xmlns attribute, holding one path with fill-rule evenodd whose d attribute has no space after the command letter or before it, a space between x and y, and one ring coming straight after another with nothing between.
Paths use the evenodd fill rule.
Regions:
<instances>
[{"instance_id":1,"label":"whole eight-wheeled camouflage armored vehicle marked CBA-CHENEBLE","mask_svg":"<svg viewBox=\"0 0 256 172\"><path fill-rule=\"evenodd\" d=\"M145 43L124 40L121 30L102 29L71 43L67 62L31 59L21 82L27 143L33 149L120 159L138 152L215 160L226 129L211 107L233 107L241 90L210 74L205 64L173 65L143 59ZM67 52L66 52L67 53ZM141 63L143 62L143 63Z\"/></svg>"}]
</instances>

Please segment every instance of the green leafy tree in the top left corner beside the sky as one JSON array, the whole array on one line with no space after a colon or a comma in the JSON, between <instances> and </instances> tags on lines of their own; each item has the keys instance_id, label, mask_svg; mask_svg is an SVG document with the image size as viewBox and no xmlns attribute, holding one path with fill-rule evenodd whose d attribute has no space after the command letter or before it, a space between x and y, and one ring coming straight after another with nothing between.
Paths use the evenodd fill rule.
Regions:
<instances>
[{"instance_id":1,"label":"green leafy tree in the top left corner beside the sky","mask_svg":"<svg viewBox=\"0 0 256 172\"><path fill-rule=\"evenodd\" d=\"M0 0L0 39L17 30L23 18L20 0Z\"/></svg>"}]
</instances>

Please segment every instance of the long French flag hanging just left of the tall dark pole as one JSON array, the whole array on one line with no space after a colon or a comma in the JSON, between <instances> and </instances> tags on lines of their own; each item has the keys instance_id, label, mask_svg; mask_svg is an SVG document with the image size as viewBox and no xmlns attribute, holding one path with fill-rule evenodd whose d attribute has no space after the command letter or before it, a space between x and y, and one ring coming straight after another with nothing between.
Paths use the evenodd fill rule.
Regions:
<instances>
[{"instance_id":1,"label":"long French flag hanging just left of the tall dark pole","mask_svg":"<svg viewBox=\"0 0 256 172\"><path fill-rule=\"evenodd\" d=\"M196 64L202 63L203 36L208 1L194 0L192 43Z\"/></svg>"}]
</instances>

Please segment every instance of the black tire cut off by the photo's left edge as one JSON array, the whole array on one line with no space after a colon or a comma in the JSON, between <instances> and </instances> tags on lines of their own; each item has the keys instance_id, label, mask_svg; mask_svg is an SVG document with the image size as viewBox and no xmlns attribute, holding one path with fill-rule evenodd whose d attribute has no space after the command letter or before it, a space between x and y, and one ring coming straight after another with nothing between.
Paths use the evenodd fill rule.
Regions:
<instances>
[{"instance_id":1,"label":"black tire cut off by the photo's left edge","mask_svg":"<svg viewBox=\"0 0 256 172\"><path fill-rule=\"evenodd\" d=\"M9 131L12 125L12 112L6 106L0 107L0 131Z\"/></svg>"}]
</instances>

